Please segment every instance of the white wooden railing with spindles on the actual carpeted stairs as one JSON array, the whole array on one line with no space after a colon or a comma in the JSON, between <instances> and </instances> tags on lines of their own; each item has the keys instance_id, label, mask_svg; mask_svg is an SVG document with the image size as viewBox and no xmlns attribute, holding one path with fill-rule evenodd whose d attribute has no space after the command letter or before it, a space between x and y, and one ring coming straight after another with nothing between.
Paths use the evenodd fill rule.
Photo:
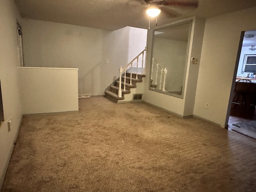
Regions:
<instances>
[{"instance_id":1,"label":"white wooden railing with spindles on the actual carpeted stairs","mask_svg":"<svg viewBox=\"0 0 256 192\"><path fill-rule=\"evenodd\" d=\"M132 66L133 62L136 61L136 79L138 79L138 65L139 65L139 58L142 57L142 72L141 74L145 75L145 66L146 66L146 56L147 54L147 46L145 49L140 52L131 62L129 62L124 68L120 66L119 68L119 90L118 90L118 97L122 97L122 74L124 73L124 91L126 90L126 72L130 69L130 85L132 85Z\"/></svg>"}]
</instances>

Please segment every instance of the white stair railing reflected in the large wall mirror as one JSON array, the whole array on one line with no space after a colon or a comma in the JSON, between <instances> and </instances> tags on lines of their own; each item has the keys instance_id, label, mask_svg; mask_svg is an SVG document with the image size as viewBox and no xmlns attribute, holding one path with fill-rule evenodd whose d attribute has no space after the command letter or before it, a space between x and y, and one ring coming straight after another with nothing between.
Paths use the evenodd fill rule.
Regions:
<instances>
[{"instance_id":1,"label":"white stair railing reflected in the large wall mirror","mask_svg":"<svg viewBox=\"0 0 256 192\"><path fill-rule=\"evenodd\" d=\"M161 73L160 73L160 85L159 90L165 91L165 83L166 83L166 74L167 74L167 68L164 68L154 57L152 57L152 66L151 66L151 80L153 80L153 68L154 68L154 62L156 62L156 79L155 84L157 85L158 82L158 68L160 67ZM164 77L162 77L164 75ZM163 81L163 85L162 85Z\"/></svg>"}]
</instances>

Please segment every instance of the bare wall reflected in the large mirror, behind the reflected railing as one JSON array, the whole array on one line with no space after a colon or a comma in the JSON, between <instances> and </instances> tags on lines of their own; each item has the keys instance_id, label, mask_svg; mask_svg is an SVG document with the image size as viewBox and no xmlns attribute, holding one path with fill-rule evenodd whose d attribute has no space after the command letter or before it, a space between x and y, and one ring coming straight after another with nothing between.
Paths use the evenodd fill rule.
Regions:
<instances>
[{"instance_id":1,"label":"bare wall reflected in the large mirror, behind the reflected railing","mask_svg":"<svg viewBox=\"0 0 256 192\"><path fill-rule=\"evenodd\" d=\"M167 68L166 91L180 91L183 86L187 44L186 41L154 38L154 58L163 68Z\"/></svg>"}]
</instances>

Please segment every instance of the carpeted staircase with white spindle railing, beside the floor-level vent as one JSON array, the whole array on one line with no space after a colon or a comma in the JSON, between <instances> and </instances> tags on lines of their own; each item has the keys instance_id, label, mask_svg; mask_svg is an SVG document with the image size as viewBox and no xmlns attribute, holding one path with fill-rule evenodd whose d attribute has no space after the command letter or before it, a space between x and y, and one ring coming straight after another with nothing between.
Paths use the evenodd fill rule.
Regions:
<instances>
[{"instance_id":1,"label":"carpeted staircase with white spindle railing, beside the floor-level vent","mask_svg":"<svg viewBox=\"0 0 256 192\"><path fill-rule=\"evenodd\" d=\"M134 90L132 89L136 89L137 83L141 83L142 78L145 77L144 69L146 64L146 51L147 47L124 68L120 66L119 78L105 90L106 98L109 98L114 102L120 102L122 100L125 100L125 95L134 93ZM139 61L142 62L141 65L139 65ZM134 64L134 62L136 64ZM141 68L140 73L138 73L139 68ZM126 101L132 100L130 99L132 98L131 95L128 98L129 99Z\"/></svg>"}]
</instances>

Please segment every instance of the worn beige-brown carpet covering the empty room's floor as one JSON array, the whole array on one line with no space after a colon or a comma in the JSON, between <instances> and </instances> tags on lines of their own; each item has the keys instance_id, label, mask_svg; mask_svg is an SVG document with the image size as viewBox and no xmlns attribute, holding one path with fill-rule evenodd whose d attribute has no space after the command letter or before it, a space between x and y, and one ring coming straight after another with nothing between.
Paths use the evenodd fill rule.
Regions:
<instances>
[{"instance_id":1,"label":"worn beige-brown carpet covering the empty room's floor","mask_svg":"<svg viewBox=\"0 0 256 192\"><path fill-rule=\"evenodd\" d=\"M144 103L24 117L2 192L247 192L256 140Z\"/></svg>"}]
</instances>

